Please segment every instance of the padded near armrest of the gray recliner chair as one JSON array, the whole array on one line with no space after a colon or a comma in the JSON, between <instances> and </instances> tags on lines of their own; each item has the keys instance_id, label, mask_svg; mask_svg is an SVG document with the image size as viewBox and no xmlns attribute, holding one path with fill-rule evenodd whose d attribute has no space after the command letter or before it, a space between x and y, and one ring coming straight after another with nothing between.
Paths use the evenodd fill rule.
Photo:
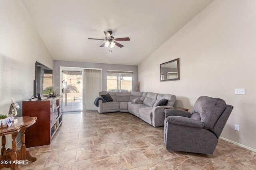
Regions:
<instances>
[{"instance_id":1,"label":"padded near armrest of the gray recliner chair","mask_svg":"<svg viewBox=\"0 0 256 170\"><path fill-rule=\"evenodd\" d=\"M187 127L195 127L195 128L204 128L204 123L201 121L190 119L188 117L182 116L168 116L166 117L166 121L173 125L187 126Z\"/></svg>"}]
</instances>

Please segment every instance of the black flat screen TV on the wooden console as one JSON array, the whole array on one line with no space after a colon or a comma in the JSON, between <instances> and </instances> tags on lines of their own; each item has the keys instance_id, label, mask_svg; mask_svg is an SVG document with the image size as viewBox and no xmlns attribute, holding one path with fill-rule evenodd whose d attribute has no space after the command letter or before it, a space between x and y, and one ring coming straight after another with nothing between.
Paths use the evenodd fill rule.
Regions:
<instances>
[{"instance_id":1,"label":"black flat screen TV on the wooden console","mask_svg":"<svg viewBox=\"0 0 256 170\"><path fill-rule=\"evenodd\" d=\"M34 98L40 93L42 96L52 94L52 69L36 61Z\"/></svg>"}]
</instances>

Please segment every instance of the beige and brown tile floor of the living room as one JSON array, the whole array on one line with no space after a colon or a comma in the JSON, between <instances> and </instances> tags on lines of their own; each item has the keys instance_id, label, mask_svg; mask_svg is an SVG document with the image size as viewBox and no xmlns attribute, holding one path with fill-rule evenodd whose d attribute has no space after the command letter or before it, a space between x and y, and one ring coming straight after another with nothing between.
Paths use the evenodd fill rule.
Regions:
<instances>
[{"instance_id":1,"label":"beige and brown tile floor of the living room","mask_svg":"<svg viewBox=\"0 0 256 170\"><path fill-rule=\"evenodd\" d=\"M21 170L256 170L256 153L222 139L214 154L166 150L163 127L130 113L63 115L50 145L28 148Z\"/></svg>"}]
</instances>

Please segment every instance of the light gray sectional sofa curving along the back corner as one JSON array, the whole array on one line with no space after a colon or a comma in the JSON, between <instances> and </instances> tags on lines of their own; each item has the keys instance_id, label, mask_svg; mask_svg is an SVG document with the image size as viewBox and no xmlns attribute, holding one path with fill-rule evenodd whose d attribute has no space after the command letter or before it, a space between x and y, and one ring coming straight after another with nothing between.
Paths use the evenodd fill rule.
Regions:
<instances>
[{"instance_id":1,"label":"light gray sectional sofa curving along the back corner","mask_svg":"<svg viewBox=\"0 0 256 170\"><path fill-rule=\"evenodd\" d=\"M154 127L164 126L164 109L173 108L176 96L152 92L99 92L99 97L110 94L113 102L98 101L99 113L127 112L139 117ZM156 106L162 99L167 99L166 106Z\"/></svg>"}]
</instances>

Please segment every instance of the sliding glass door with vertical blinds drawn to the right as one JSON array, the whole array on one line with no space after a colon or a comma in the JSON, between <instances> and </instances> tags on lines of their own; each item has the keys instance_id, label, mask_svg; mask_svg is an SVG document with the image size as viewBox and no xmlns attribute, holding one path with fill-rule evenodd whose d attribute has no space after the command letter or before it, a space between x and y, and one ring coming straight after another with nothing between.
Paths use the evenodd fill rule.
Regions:
<instances>
[{"instance_id":1,"label":"sliding glass door with vertical blinds drawn to the right","mask_svg":"<svg viewBox=\"0 0 256 170\"><path fill-rule=\"evenodd\" d=\"M97 109L102 91L102 69L61 67L63 112Z\"/></svg>"}]
</instances>

